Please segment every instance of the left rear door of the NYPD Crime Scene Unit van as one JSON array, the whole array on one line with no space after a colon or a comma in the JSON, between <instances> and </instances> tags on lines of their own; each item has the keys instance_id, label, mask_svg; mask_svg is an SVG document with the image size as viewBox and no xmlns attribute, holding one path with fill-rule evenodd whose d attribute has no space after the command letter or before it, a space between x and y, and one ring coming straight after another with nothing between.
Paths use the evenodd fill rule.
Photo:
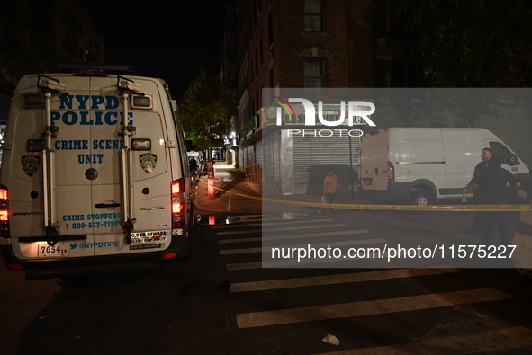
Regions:
<instances>
[{"instance_id":1,"label":"left rear door of the NYPD Crime Scene Unit van","mask_svg":"<svg viewBox=\"0 0 532 355\"><path fill-rule=\"evenodd\" d=\"M61 84L66 84L71 97L86 94L88 78L77 78L73 84L68 77L57 76ZM53 138L55 168L49 173L43 169L43 154L39 148L30 146L42 141L44 132L44 108L24 107L24 94L39 93L37 76L23 78L14 96L14 115L10 117L11 149L5 151L3 169L10 193L12 217L11 237L13 251L19 259L47 259L83 257L94 252L83 246L94 242L93 235L86 228L86 216L90 209L90 182L80 178L84 166L77 164L77 156L88 145L90 131L80 125L78 110L64 106L65 97L57 94L51 98L52 124L58 128L57 138ZM30 144L30 142L33 142ZM36 146L39 146L36 144ZM56 221L53 224L60 238L51 248L44 241L43 226L44 185L43 177L53 175L55 182ZM32 240L39 240L32 242ZM54 239L54 238L52 238Z\"/></svg>"}]
</instances>

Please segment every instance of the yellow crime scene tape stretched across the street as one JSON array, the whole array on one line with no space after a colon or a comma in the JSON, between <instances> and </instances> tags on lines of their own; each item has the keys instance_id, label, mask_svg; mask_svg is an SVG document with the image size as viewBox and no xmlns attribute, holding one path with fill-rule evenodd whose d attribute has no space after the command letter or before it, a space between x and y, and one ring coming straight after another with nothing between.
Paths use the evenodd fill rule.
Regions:
<instances>
[{"instance_id":1,"label":"yellow crime scene tape stretched across the street","mask_svg":"<svg viewBox=\"0 0 532 355\"><path fill-rule=\"evenodd\" d=\"M209 182L199 181L210 185ZM364 204L339 204L339 203L314 203L294 200L274 200L263 197L249 196L242 193L234 193L223 190L214 185L211 185L215 190L229 193L229 202L227 210L230 210L231 196L239 196L252 200L262 200L272 203L281 203L284 205L305 206L305 207L319 207L325 209L366 209L366 210L386 210L386 211L455 211L455 212L521 212L532 211L532 204L528 205L429 205L429 206L411 206L411 205L364 205Z\"/></svg>"}]
</instances>

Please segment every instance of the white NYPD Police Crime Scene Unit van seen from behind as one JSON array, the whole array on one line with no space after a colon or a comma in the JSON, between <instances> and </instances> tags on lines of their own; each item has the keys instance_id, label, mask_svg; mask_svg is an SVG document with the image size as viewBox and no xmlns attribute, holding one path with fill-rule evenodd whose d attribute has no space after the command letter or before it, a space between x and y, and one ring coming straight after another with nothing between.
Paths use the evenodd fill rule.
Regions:
<instances>
[{"instance_id":1,"label":"white NYPD Police Crime Scene Unit van seen from behind","mask_svg":"<svg viewBox=\"0 0 532 355\"><path fill-rule=\"evenodd\" d=\"M189 253L190 173L160 79L25 75L0 173L0 248L27 279L157 269Z\"/></svg>"}]
</instances>

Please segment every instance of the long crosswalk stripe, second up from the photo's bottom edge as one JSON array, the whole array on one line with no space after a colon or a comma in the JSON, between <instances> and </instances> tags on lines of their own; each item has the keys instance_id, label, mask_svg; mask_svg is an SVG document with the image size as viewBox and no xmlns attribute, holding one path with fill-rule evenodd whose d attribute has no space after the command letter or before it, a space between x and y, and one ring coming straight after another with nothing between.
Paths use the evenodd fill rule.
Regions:
<instances>
[{"instance_id":1,"label":"long crosswalk stripe, second up from the photo's bottom edge","mask_svg":"<svg viewBox=\"0 0 532 355\"><path fill-rule=\"evenodd\" d=\"M382 315L444 306L497 301L512 297L513 296L509 293L500 291L496 288L478 288L466 291L389 298L329 306L312 306L239 314L237 315L237 325L239 328L253 328L266 325L292 324L361 315Z\"/></svg>"}]
</instances>

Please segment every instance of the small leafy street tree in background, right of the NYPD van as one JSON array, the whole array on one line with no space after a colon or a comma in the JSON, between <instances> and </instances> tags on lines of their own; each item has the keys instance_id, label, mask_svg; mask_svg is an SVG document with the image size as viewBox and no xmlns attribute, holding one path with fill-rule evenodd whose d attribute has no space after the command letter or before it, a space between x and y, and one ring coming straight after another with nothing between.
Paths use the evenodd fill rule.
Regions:
<instances>
[{"instance_id":1,"label":"small leafy street tree in background, right of the NYPD van","mask_svg":"<svg viewBox=\"0 0 532 355\"><path fill-rule=\"evenodd\" d=\"M196 150L220 146L226 133L226 117L234 109L234 99L224 93L221 81L204 67L179 103L178 118Z\"/></svg>"}]
</instances>

